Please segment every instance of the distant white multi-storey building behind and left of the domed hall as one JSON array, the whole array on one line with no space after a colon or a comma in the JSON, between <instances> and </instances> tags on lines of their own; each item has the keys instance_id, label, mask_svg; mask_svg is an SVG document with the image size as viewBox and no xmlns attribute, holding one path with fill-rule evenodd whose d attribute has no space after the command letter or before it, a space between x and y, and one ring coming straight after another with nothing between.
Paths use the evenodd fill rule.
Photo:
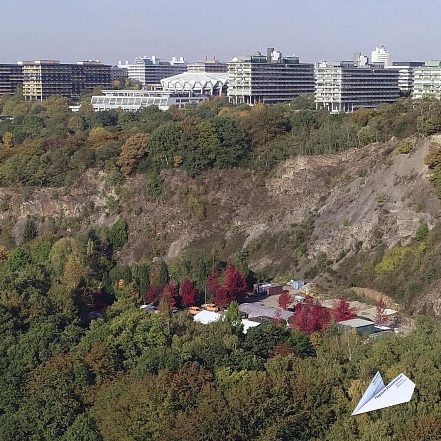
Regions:
<instances>
[{"instance_id":1,"label":"distant white multi-storey building behind and left of the domed hall","mask_svg":"<svg viewBox=\"0 0 441 441\"><path fill-rule=\"evenodd\" d=\"M135 58L133 64L127 66L128 77L139 81L143 86L159 85L163 78L187 71L187 63L183 57L173 57L172 61L156 58L152 55Z\"/></svg>"}]
</instances>

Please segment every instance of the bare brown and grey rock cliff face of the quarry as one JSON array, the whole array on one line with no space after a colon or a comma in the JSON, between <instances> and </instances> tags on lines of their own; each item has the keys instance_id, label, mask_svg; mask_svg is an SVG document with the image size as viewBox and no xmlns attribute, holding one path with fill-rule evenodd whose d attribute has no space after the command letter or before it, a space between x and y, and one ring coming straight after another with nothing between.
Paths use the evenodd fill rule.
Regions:
<instances>
[{"instance_id":1,"label":"bare brown and grey rock cliff face of the quarry","mask_svg":"<svg viewBox=\"0 0 441 441\"><path fill-rule=\"evenodd\" d=\"M302 239L305 266L323 252L334 259L343 249L369 249L379 241L405 245L420 219L429 226L439 220L441 204L424 165L433 139L411 141L410 154L398 154L392 140L341 154L296 157L268 176L235 169L194 180L166 170L157 200L147 196L145 175L115 188L103 172L88 171L69 188L0 189L0 199L9 201L0 220L15 216L19 236L27 216L38 218L42 228L70 219L84 230L122 217L129 227L120 255L124 262L143 256L172 261L198 248L221 249L224 255L245 248L251 268L282 274L298 257L293 235L311 213L311 230Z\"/></svg>"}]
</instances>

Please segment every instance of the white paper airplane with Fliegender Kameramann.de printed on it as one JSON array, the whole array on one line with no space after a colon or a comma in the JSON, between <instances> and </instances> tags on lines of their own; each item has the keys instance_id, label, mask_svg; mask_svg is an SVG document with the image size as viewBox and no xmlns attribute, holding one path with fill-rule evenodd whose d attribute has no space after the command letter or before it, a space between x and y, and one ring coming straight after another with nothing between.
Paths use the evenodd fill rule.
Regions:
<instances>
[{"instance_id":1,"label":"white paper airplane with Fliegender Kameramann.de printed on it","mask_svg":"<svg viewBox=\"0 0 441 441\"><path fill-rule=\"evenodd\" d=\"M364 414L384 407L407 403L414 393L415 383L404 374L399 374L387 386L377 372L363 394L352 415Z\"/></svg>"}]
</instances>

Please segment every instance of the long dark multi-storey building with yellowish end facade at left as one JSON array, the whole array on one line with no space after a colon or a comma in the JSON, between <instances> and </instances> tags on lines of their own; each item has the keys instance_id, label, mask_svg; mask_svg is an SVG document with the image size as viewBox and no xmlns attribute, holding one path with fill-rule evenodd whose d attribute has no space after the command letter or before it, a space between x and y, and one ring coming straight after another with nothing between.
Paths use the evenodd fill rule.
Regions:
<instances>
[{"instance_id":1,"label":"long dark multi-storey building with yellowish end facade at left","mask_svg":"<svg viewBox=\"0 0 441 441\"><path fill-rule=\"evenodd\" d=\"M42 101L52 95L78 99L84 91L111 85L111 67L99 61L62 64L58 60L20 62L23 66L23 95Z\"/></svg>"}]
</instances>

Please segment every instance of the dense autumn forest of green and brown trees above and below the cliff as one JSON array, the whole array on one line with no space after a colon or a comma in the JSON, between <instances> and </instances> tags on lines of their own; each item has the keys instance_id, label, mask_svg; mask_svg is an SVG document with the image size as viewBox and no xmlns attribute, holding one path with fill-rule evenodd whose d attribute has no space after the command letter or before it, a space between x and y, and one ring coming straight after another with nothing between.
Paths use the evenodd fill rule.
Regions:
<instances>
[{"instance_id":1,"label":"dense autumn forest of green and brown trees above and below the cliff","mask_svg":"<svg viewBox=\"0 0 441 441\"><path fill-rule=\"evenodd\" d=\"M73 114L60 97L2 97L2 114L13 120L0 122L0 185L26 195L69 186L96 169L116 186L145 174L154 198L167 168L196 180L210 169L270 173L297 155L441 130L437 100L403 99L351 115L316 112L309 98L253 108L218 98L135 113L93 113L88 101L84 95ZM441 189L439 149L427 163ZM1 200L0 211L8 204ZM287 329L275 320L243 334L235 300L266 275L250 270L241 251L230 259L199 250L168 265L153 256L124 265L123 219L79 230L60 221L40 232L29 218L20 235L14 222L3 217L0 232L1 440L441 439L435 318L418 317L408 337L378 340L338 332L335 317L318 323L311 315L302 317L307 326L294 320ZM426 283L438 274L439 235L421 223L415 246L383 250L372 262L360 253L337 276L343 285L358 283L351 273L358 265L398 291L411 268ZM209 300L230 304L223 323L172 314ZM159 314L140 310L146 302ZM350 417L377 370L385 381L408 375L417 384L412 401Z\"/></svg>"}]
</instances>

